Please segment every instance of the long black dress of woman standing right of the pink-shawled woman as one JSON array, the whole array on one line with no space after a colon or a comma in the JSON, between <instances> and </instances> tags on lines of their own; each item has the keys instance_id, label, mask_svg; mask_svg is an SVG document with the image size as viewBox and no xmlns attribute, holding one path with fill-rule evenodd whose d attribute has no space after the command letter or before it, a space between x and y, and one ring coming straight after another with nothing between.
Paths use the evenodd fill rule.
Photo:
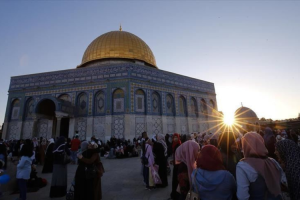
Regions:
<instances>
[{"instance_id":1,"label":"long black dress of woman standing right of the pink-shawled woman","mask_svg":"<svg viewBox=\"0 0 300 200\"><path fill-rule=\"evenodd\" d=\"M158 168L158 175L162 181L161 185L157 185L158 187L166 187L168 186L168 172L167 172L167 158L165 157L165 149L164 146L159 143L155 142L153 144L153 153L155 156L155 164L159 166Z\"/></svg>"}]
</instances>

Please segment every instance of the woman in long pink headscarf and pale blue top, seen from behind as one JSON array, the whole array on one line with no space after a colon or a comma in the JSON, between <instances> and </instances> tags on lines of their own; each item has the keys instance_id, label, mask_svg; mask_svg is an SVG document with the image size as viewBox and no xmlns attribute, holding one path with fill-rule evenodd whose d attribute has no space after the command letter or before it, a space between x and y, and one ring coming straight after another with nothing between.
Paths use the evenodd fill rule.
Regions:
<instances>
[{"instance_id":1,"label":"woman in long pink headscarf and pale blue top, seen from behind","mask_svg":"<svg viewBox=\"0 0 300 200\"><path fill-rule=\"evenodd\" d=\"M268 157L264 139L249 132L242 137L244 159L236 167L238 199L281 199L278 163Z\"/></svg>"}]
</instances>

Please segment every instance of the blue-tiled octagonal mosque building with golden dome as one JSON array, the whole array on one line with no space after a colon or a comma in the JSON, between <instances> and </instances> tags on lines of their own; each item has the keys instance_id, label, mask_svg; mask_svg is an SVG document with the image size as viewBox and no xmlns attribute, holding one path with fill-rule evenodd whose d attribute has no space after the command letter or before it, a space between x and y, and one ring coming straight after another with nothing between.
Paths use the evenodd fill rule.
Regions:
<instances>
[{"instance_id":1,"label":"blue-tiled octagonal mosque building with golden dome","mask_svg":"<svg viewBox=\"0 0 300 200\"><path fill-rule=\"evenodd\" d=\"M159 69L120 28L92 41L74 69L11 77L2 137L188 134L212 129L215 111L213 83Z\"/></svg>"}]
</instances>

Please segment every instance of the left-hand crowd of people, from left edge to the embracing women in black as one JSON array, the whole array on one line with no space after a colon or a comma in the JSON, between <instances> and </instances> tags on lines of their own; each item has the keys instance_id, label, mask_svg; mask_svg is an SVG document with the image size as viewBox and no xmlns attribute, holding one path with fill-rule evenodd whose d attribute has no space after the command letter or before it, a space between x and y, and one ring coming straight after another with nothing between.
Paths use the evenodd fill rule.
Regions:
<instances>
[{"instance_id":1,"label":"left-hand crowd of people, from left edge to the embracing women in black","mask_svg":"<svg viewBox=\"0 0 300 200\"><path fill-rule=\"evenodd\" d=\"M75 200L100 200L104 168L100 160L101 145L98 144L101 142L95 137L88 142L80 141L78 135L72 140L64 136L48 140L0 140L0 171L6 170L8 161L17 166L18 200L26 200L29 187L40 188L47 184L46 179L37 177L36 166L42 165L42 173L52 173L49 197L56 198L68 195L67 165L78 164L71 195Z\"/></svg>"}]
</instances>

